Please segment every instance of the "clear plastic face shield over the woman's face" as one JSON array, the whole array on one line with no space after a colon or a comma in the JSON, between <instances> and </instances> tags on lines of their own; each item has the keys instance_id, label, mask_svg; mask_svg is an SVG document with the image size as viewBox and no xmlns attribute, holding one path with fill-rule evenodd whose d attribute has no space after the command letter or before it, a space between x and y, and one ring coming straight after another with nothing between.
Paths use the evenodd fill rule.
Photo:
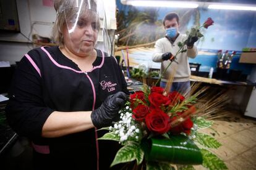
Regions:
<instances>
[{"instance_id":1,"label":"clear plastic face shield over the woman's face","mask_svg":"<svg viewBox=\"0 0 256 170\"><path fill-rule=\"evenodd\" d=\"M111 54L103 0L64 0L59 12L64 12L64 44L70 50L79 55L94 49Z\"/></svg>"}]
</instances>

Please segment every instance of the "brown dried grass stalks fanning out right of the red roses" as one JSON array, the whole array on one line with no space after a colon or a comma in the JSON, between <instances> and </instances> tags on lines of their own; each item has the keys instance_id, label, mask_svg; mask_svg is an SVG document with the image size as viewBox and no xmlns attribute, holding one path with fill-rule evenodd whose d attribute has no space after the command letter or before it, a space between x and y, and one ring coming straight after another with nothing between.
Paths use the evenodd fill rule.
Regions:
<instances>
[{"instance_id":1,"label":"brown dried grass stalks fanning out right of the red roses","mask_svg":"<svg viewBox=\"0 0 256 170\"><path fill-rule=\"evenodd\" d=\"M172 82L168 81L168 84L172 84ZM166 85L166 88L170 89L170 86ZM200 116L206 119L220 119L228 115L228 111L225 111L225 106L229 101L226 91L215 93L215 91L211 90L210 86L202 87L202 83L193 83L191 89L187 89L184 96L186 100L179 103L175 110L182 110L182 108L187 107L187 103L194 103L197 110L195 111L194 108L188 108L181 115L177 116L177 119L172 121L171 127L178 126L186 121L186 119L190 118L190 116Z\"/></svg>"}]
</instances>

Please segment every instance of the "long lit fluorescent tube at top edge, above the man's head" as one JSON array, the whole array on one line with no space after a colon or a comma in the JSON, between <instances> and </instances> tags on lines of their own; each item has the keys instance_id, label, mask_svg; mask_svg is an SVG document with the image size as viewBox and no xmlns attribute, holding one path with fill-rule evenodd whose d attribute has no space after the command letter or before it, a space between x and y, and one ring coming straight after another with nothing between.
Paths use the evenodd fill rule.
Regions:
<instances>
[{"instance_id":1,"label":"long lit fluorescent tube at top edge, above the man's head","mask_svg":"<svg viewBox=\"0 0 256 170\"><path fill-rule=\"evenodd\" d=\"M198 4L195 2L187 1L130 1L123 0L123 4L131 6L143 7L181 7L181 8L197 8Z\"/></svg>"}]
</instances>

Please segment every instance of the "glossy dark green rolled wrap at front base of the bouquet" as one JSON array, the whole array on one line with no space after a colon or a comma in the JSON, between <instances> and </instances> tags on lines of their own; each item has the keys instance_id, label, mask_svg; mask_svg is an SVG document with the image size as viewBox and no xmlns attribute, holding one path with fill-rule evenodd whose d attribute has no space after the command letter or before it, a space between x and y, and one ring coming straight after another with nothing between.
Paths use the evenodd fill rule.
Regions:
<instances>
[{"instance_id":1,"label":"glossy dark green rolled wrap at front base of the bouquet","mask_svg":"<svg viewBox=\"0 0 256 170\"><path fill-rule=\"evenodd\" d=\"M170 139L150 138L142 141L147 161L163 161L173 164L202 164L200 149L186 136L177 135Z\"/></svg>"}]
</instances>

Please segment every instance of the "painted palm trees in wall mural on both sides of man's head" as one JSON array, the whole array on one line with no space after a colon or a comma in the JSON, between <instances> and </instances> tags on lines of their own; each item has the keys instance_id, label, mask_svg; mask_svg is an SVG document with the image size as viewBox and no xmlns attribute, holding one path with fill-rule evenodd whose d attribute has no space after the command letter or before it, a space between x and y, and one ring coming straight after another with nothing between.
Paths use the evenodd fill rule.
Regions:
<instances>
[{"instance_id":1,"label":"painted palm trees in wall mural on both sides of man's head","mask_svg":"<svg viewBox=\"0 0 256 170\"><path fill-rule=\"evenodd\" d=\"M140 11L133 6L124 6L117 15L117 33L120 34L118 46L153 46L155 41L165 34L162 20L158 20L160 9L145 9ZM128 11L125 13L125 11ZM176 10L180 16L181 33L185 33L189 21L200 25L200 12L198 9Z\"/></svg>"}]
</instances>

